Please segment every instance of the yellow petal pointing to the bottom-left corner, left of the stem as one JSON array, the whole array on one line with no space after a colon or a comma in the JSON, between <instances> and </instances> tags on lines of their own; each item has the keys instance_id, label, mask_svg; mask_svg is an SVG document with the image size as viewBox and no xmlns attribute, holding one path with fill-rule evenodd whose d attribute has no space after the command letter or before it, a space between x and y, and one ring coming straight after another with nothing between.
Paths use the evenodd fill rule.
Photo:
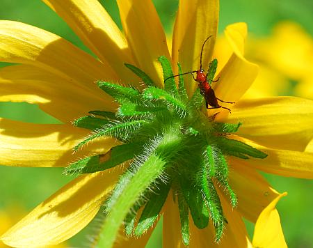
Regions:
<instances>
[{"instance_id":1,"label":"yellow petal pointing to the bottom-left corner, left of the stem","mask_svg":"<svg viewBox=\"0 0 313 248\"><path fill-rule=\"evenodd\" d=\"M80 176L42 202L1 236L13 247L57 245L81 231L113 189L120 169Z\"/></svg>"}]
</instances>

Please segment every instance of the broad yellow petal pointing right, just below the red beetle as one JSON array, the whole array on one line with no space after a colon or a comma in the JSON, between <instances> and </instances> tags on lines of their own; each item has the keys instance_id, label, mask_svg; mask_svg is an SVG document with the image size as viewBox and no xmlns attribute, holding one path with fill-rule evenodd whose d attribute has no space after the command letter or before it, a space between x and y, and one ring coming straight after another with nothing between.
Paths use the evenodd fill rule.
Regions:
<instances>
[{"instance_id":1,"label":"broad yellow petal pointing right, just below the red beetle","mask_svg":"<svg viewBox=\"0 0 313 248\"><path fill-rule=\"evenodd\" d=\"M236 134L262 146L305 150L313 138L313 101L294 97L242 100L228 121L242 122Z\"/></svg>"}]
</instances>

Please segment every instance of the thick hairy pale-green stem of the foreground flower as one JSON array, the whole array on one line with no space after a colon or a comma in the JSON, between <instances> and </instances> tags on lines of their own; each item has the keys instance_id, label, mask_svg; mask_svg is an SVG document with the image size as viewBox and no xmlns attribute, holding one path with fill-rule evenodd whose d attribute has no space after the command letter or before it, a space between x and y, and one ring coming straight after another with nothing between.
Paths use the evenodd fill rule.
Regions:
<instances>
[{"instance_id":1,"label":"thick hairy pale-green stem of the foreground flower","mask_svg":"<svg viewBox=\"0 0 313 248\"><path fill-rule=\"evenodd\" d=\"M109 214L106 216L106 220L102 226L97 247L113 247L120 225L124 222L129 209L134 206L134 203L143 194L145 189L150 187L150 184L161 175L165 164L166 162L156 153L152 153L138 167L138 170L130 178L127 186L120 192L115 203L111 206Z\"/></svg>"}]
</instances>

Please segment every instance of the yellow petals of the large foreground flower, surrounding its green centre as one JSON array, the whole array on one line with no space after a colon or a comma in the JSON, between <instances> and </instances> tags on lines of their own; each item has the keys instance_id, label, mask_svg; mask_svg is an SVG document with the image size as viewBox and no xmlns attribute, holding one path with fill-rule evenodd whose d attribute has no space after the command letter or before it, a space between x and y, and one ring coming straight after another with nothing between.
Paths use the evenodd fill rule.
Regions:
<instances>
[{"instance_id":1,"label":"yellow petals of the large foreground flower, surrounding its green centre","mask_svg":"<svg viewBox=\"0 0 313 248\"><path fill-rule=\"evenodd\" d=\"M0 164L67 166L77 157L110 155L110 149L118 146L118 141L112 137L102 137L72 153L72 148L89 133L71 125L72 121L91 110L116 111L118 108L109 94L99 90L95 81L123 82L142 88L140 79L124 66L124 63L129 63L141 68L153 82L163 86L159 56L170 59L175 72L178 71L177 62L181 63L183 72L188 72L199 69L202 44L209 36L211 39L203 51L202 65L208 65L214 53L218 0L180 1L171 57L152 1L143 4L139 0L118 0L125 35L96 0L45 0L45 3L71 26L99 60L48 31L19 22L0 22L0 59L19 64L0 70L3 92L0 100L38 104L43 111L63 122L38 125L1 119ZM225 30L230 54L222 63L223 67L218 68L216 78L219 80L213 88L218 98L236 104L223 104L232 110L232 114L223 109L216 114L214 121L240 121L243 125L236 135L230 137L262 150L268 157L244 161L229 158L228 179L238 197L238 205L232 208L223 187L216 186L227 222L223 238L218 244L214 241L212 222L199 229L190 221L190 247L252 246L242 218L257 222L260 214L260 218L264 218L262 216L271 212L266 208L264 214L262 210L280 197L257 170L280 176L313 177L313 154L304 152L313 137L312 101L287 97L240 100L258 71L257 65L243 56L246 33L243 23L230 25ZM197 84L191 77L185 80L186 91L191 97ZM211 109L207 114L211 116L214 113L216 110ZM45 247L67 240L95 217L122 171L125 171L123 166L117 166L79 176L10 228L1 240L13 247ZM122 201L122 197L118 199ZM184 246L177 205L172 194L168 194L162 210L164 247ZM270 208L274 209L275 203ZM107 219L110 216L111 212ZM120 218L124 217L121 213ZM107 219L104 229L108 228ZM118 227L109 230L113 232L109 239L114 241ZM273 228L279 231L280 225ZM150 228L141 238L127 237L120 231L117 247L144 247L152 230ZM100 240L102 235L107 233L100 233ZM283 246L284 238L280 238L278 244ZM259 244L259 236L256 239L253 244ZM108 241L109 245L112 245L112 240Z\"/></svg>"}]
</instances>

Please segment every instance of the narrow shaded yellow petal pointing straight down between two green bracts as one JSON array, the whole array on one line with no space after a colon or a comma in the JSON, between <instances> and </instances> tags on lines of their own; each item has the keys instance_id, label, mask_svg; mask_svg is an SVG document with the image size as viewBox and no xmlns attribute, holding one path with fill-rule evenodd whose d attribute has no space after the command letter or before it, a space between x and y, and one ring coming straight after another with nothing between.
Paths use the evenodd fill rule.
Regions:
<instances>
[{"instance_id":1,"label":"narrow shaded yellow petal pointing straight down between two green bracts","mask_svg":"<svg viewBox=\"0 0 313 248\"><path fill-rule=\"evenodd\" d=\"M183 247L178 203L174 202L172 194L168 194L163 214L163 248Z\"/></svg>"}]
</instances>

